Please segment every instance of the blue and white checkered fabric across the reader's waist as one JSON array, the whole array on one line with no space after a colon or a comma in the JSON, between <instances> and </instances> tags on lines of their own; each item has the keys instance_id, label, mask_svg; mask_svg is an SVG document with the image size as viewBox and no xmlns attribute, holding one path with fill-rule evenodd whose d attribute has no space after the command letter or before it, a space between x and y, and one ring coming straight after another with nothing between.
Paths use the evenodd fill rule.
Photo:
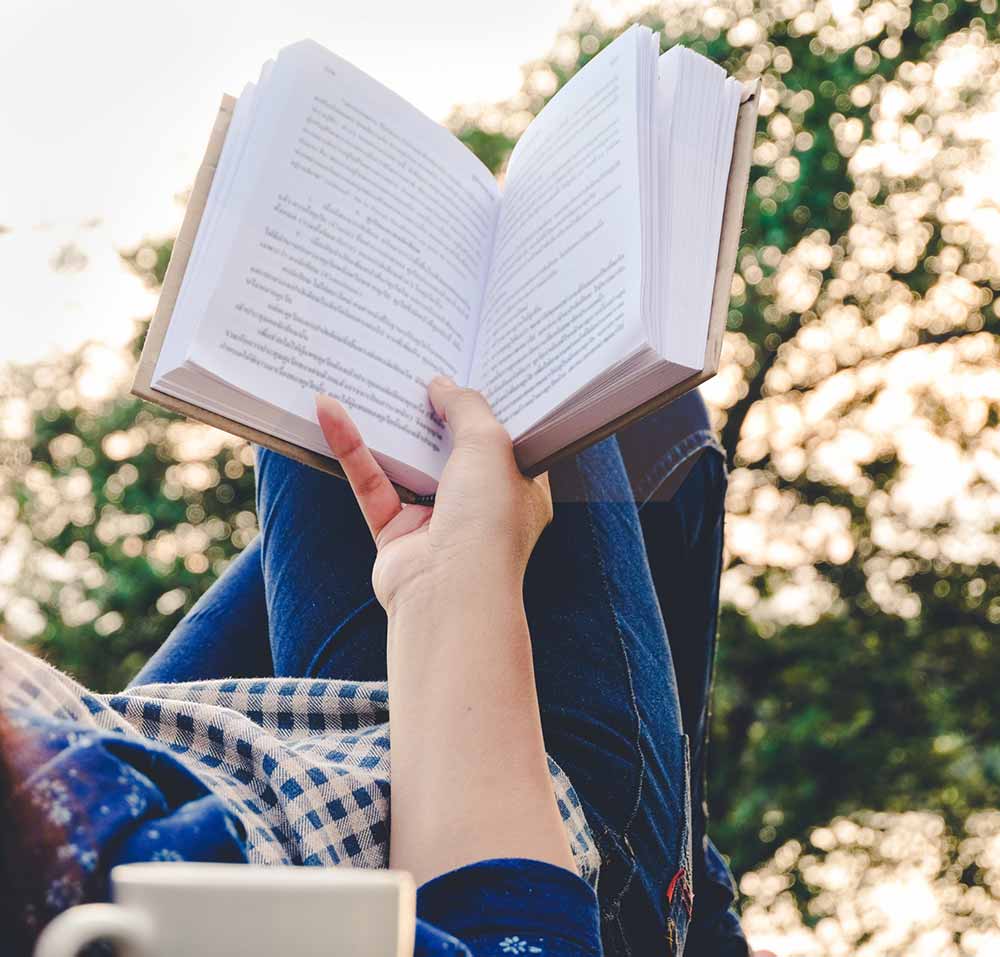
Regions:
<instances>
[{"instance_id":1,"label":"blue and white checkered fabric across the reader's waist","mask_svg":"<svg viewBox=\"0 0 1000 957\"><path fill-rule=\"evenodd\" d=\"M4 707L169 748L243 822L259 864L388 866L384 682L241 679L95 694L0 639ZM576 792L549 769L580 876L600 854Z\"/></svg>"}]
</instances>

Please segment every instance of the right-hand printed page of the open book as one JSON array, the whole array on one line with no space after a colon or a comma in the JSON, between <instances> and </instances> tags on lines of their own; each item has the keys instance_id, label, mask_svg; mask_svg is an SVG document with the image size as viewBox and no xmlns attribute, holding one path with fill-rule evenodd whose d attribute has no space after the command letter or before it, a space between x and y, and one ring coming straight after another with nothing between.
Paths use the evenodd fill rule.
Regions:
<instances>
[{"instance_id":1,"label":"right-hand printed page of the open book","mask_svg":"<svg viewBox=\"0 0 1000 957\"><path fill-rule=\"evenodd\" d=\"M588 63L510 159L469 384L514 438L645 342L643 37L633 27Z\"/></svg>"}]
</instances>

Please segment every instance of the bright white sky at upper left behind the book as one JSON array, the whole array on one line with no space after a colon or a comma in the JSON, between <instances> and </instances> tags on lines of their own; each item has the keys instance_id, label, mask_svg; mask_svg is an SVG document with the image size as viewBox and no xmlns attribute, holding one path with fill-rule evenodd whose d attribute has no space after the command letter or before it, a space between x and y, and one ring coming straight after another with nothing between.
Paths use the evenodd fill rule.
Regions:
<instances>
[{"instance_id":1,"label":"bright white sky at upper left behind the book","mask_svg":"<svg viewBox=\"0 0 1000 957\"><path fill-rule=\"evenodd\" d=\"M312 37L435 119L507 97L572 0L2 0L0 360L121 341L155 295L116 250L172 234L222 93ZM51 261L61 250L69 269ZM76 268L73 268L73 265Z\"/></svg>"}]
</instances>

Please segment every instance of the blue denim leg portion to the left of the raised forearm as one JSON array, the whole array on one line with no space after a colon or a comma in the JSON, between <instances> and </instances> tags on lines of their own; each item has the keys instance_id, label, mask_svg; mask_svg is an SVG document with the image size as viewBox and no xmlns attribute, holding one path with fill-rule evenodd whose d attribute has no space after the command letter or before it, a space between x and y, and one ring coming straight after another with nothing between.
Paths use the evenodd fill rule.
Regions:
<instances>
[{"instance_id":1,"label":"blue denim leg portion to the left of the raised forearm","mask_svg":"<svg viewBox=\"0 0 1000 957\"><path fill-rule=\"evenodd\" d=\"M386 678L375 547L350 487L257 449L261 534L178 623L130 687L212 678Z\"/></svg>"}]
</instances>

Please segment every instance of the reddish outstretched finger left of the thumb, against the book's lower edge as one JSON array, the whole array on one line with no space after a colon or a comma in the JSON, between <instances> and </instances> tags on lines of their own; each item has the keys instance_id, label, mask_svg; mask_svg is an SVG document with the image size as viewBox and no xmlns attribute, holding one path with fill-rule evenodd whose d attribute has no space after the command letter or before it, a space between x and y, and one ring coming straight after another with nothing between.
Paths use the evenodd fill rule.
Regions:
<instances>
[{"instance_id":1,"label":"reddish outstretched finger left of the thumb, against the book's lower edge","mask_svg":"<svg viewBox=\"0 0 1000 957\"><path fill-rule=\"evenodd\" d=\"M399 494L365 445L358 427L336 399L316 396L316 417L326 444L351 483L372 538L402 511Z\"/></svg>"}]
</instances>

